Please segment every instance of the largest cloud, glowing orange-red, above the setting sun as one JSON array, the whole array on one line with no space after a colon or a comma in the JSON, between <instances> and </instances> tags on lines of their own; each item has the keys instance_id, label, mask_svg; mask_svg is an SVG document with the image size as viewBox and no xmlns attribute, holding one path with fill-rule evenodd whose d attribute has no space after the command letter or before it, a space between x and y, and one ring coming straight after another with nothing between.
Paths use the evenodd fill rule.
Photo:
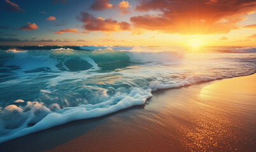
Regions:
<instances>
[{"instance_id":1,"label":"largest cloud, glowing orange-red, above the setting sun","mask_svg":"<svg viewBox=\"0 0 256 152\"><path fill-rule=\"evenodd\" d=\"M135 9L159 12L132 16L135 28L170 34L220 34L239 28L236 23L256 9L256 1L141 0Z\"/></svg>"}]
</instances>

